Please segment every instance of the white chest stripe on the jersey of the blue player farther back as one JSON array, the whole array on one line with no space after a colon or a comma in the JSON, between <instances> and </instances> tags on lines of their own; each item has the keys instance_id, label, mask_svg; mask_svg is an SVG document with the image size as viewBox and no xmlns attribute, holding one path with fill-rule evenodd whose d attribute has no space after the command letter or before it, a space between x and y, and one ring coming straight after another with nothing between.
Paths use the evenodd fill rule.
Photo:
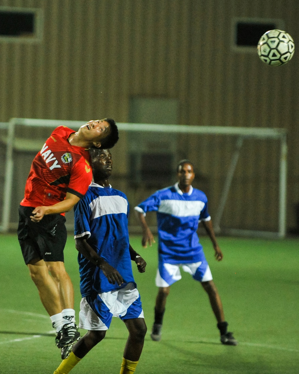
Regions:
<instances>
[{"instance_id":1,"label":"white chest stripe on the jersey of the blue player farther back","mask_svg":"<svg viewBox=\"0 0 299 374\"><path fill-rule=\"evenodd\" d=\"M189 217L200 215L203 207L203 201L161 200L158 212L176 217Z\"/></svg>"}]
</instances>

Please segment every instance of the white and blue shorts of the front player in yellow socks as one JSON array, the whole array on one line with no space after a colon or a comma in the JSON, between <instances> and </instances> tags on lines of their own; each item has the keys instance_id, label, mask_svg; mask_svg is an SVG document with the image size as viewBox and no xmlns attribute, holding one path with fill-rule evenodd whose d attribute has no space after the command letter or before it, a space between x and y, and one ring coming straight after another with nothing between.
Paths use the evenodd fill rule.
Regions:
<instances>
[{"instance_id":1,"label":"white and blue shorts of the front player in yellow socks","mask_svg":"<svg viewBox=\"0 0 299 374\"><path fill-rule=\"evenodd\" d=\"M79 327L86 330L108 330L112 317L122 320L144 318L140 295L133 283L124 288L83 297L80 303Z\"/></svg>"}]
</instances>

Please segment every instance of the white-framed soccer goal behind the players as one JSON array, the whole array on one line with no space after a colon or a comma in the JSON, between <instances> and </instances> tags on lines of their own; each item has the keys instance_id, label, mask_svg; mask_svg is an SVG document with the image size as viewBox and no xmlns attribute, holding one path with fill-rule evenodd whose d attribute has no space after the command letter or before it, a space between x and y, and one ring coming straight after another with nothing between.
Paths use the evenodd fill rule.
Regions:
<instances>
[{"instance_id":1,"label":"white-framed soccer goal behind the players","mask_svg":"<svg viewBox=\"0 0 299 374\"><path fill-rule=\"evenodd\" d=\"M81 121L25 118L13 118L6 125L2 124L2 129L6 128L6 135L1 137L1 141L6 144L6 155L2 181L1 232L15 229L17 224L16 219L12 218L15 213L12 214L12 212L16 211L14 207L22 199L21 195L16 195L18 189L19 194L24 192L24 178L27 177L29 171L28 166L22 166L22 162L27 160L28 165L30 165L34 155L41 149L44 141L55 127L63 125L76 130L83 124L84 122ZM167 186L165 184L163 186L166 181L165 178L159 179L162 174L164 177L169 174L169 170L165 168L167 163L173 172L178 160L187 157L191 159L191 156L193 160L198 154L200 160L205 159L206 171L203 175L206 175L207 189L210 189L210 195L212 195L214 206L212 219L217 233L269 238L285 236L287 189L285 129L144 123L117 123L117 126L120 131L120 141L113 148L113 154L115 154L114 159L116 161L121 159L121 167L115 173L119 180L122 180L122 182L119 182L120 189L124 190L129 197L129 201L130 199L133 200L133 204L137 205L141 199L147 197L146 194L158 189L158 187ZM258 145L254 148L254 144L257 144L257 142ZM275 151L272 152L275 161L272 160L271 155L267 154L267 147L275 147ZM261 155L258 155L259 151L262 152ZM252 157L253 154L256 159L263 159L263 163L270 162L269 166L264 165L265 170L274 173L273 177L270 178L269 175L265 175L265 172L261 171L256 181L257 187L255 187L255 190L259 190L258 183L263 184L263 197L259 199L265 198L266 203L264 205L269 206L269 209L274 209L273 211L277 214L277 219L275 218L276 227L272 230L265 230L263 224L260 227L254 227L250 222L247 224L245 215L245 218L240 218L237 224L234 223L237 215L241 217L241 214L254 209L256 205L250 202L252 197L250 197L250 192L246 191L246 188L249 188L252 184L252 178L247 176L246 179L243 176L241 180L241 177L238 177L239 179L236 177L238 167L242 169L242 172L252 170L252 175L256 172L255 168L258 168L255 165L257 162ZM151 158L152 155L156 155L156 158ZM157 172L157 166L164 168L162 172ZM147 173L148 170L150 172ZM25 174L22 177L23 172ZM211 175L214 179L211 179ZM216 178L215 175L217 178L219 175L217 185L213 183ZM21 179L22 183L20 183ZM270 179L271 183L275 184L273 191L276 191L277 196L274 197L268 196L271 192L268 193L266 188ZM124 183L124 180L128 182ZM146 189L147 183L148 188ZM239 192L235 192L238 183L242 183L242 186L239 186ZM204 190L204 188L200 189ZM145 195L142 195L142 191ZM208 199L210 203L210 196L208 196ZM132 203L130 201L130 204ZM226 212L232 210L232 206L239 209L232 214L234 219L225 216ZM246 208L243 209L243 207ZM245 213L244 210L246 210ZM270 215L266 210L262 214L265 220ZM258 213L253 215L258 215ZM132 228L134 226L132 222L131 226Z\"/></svg>"}]
</instances>

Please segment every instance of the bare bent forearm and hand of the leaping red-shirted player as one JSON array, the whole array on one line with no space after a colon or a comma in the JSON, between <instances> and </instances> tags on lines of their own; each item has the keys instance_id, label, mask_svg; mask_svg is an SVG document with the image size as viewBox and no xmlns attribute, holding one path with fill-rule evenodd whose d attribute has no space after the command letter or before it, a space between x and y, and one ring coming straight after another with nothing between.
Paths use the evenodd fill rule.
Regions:
<instances>
[{"instance_id":1,"label":"bare bent forearm and hand of the leaping red-shirted player","mask_svg":"<svg viewBox=\"0 0 299 374\"><path fill-rule=\"evenodd\" d=\"M73 193L67 192L67 196L64 200L50 206L37 206L30 216L31 221L39 222L44 215L55 214L55 213L65 213L70 211L75 204L80 200L80 197L74 195Z\"/></svg>"}]
</instances>

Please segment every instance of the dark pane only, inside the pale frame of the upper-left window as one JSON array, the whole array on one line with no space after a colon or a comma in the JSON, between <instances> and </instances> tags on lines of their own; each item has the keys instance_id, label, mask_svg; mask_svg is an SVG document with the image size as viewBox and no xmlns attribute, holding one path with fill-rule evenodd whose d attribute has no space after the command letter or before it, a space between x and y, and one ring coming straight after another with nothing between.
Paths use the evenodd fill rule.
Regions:
<instances>
[{"instance_id":1,"label":"dark pane only, inside the pale frame of the upper-left window","mask_svg":"<svg viewBox=\"0 0 299 374\"><path fill-rule=\"evenodd\" d=\"M35 14L0 12L0 36L33 36Z\"/></svg>"}]
</instances>

